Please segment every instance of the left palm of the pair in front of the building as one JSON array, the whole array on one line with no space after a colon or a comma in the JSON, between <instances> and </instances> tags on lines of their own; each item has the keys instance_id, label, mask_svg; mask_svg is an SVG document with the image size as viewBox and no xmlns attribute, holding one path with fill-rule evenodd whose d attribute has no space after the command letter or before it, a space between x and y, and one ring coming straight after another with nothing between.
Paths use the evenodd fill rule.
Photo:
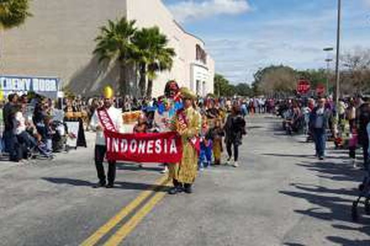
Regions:
<instances>
[{"instance_id":1,"label":"left palm of the pair in front of the building","mask_svg":"<svg viewBox=\"0 0 370 246\"><path fill-rule=\"evenodd\" d=\"M101 28L94 54L99 56L99 62L116 61L120 66L119 87L122 95L127 93L127 71L133 64L134 45L131 37L136 32L136 21L128 21L125 17L115 22L109 20L108 25Z\"/></svg>"}]
</instances>

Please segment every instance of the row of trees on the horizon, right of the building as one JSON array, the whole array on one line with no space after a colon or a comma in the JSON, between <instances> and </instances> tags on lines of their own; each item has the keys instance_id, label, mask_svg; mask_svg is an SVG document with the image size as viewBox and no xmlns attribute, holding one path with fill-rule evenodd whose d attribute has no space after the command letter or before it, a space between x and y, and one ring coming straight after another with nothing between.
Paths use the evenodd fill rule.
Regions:
<instances>
[{"instance_id":1,"label":"row of trees on the horizon, right of the building","mask_svg":"<svg viewBox=\"0 0 370 246\"><path fill-rule=\"evenodd\" d=\"M333 69L297 70L286 65L270 65L254 73L250 84L231 85L222 75L215 76L215 92L221 96L279 96L296 94L297 81L306 79L315 90L319 85L328 86L329 94L335 91ZM340 57L341 95L370 93L370 49L357 48Z\"/></svg>"}]
</instances>

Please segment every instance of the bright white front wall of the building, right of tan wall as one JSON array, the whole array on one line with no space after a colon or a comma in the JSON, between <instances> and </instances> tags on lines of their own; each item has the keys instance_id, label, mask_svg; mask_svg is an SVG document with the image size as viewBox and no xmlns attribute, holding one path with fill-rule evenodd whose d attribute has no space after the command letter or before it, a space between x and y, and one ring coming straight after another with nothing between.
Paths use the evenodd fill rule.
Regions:
<instances>
[{"instance_id":1,"label":"bright white front wall of the building, right of tan wall","mask_svg":"<svg viewBox=\"0 0 370 246\"><path fill-rule=\"evenodd\" d=\"M163 94L164 85L172 79L180 86L193 88L192 63L195 62L195 46L198 44L204 47L203 41L186 33L174 21L161 0L127 0L127 16L129 19L137 20L137 26L140 28L158 26L161 32L167 35L169 46L174 48L177 54L171 71L160 73L154 81L153 95ZM206 82L206 92L213 92L213 79L212 85L208 85L209 80Z\"/></svg>"}]
</instances>

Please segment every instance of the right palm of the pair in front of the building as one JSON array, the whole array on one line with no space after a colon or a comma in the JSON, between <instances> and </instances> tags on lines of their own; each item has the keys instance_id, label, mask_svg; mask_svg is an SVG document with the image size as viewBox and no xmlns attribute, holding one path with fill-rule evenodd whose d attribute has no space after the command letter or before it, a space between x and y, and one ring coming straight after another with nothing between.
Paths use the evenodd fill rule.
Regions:
<instances>
[{"instance_id":1,"label":"right palm of the pair in front of the building","mask_svg":"<svg viewBox=\"0 0 370 246\"><path fill-rule=\"evenodd\" d=\"M170 70L176 53L173 48L167 47L168 39L166 35L160 33L158 27L137 31L132 38L132 43L136 49L135 59L139 63L140 93L142 96L146 94L150 97L157 72ZM147 77L148 90L146 90Z\"/></svg>"}]
</instances>

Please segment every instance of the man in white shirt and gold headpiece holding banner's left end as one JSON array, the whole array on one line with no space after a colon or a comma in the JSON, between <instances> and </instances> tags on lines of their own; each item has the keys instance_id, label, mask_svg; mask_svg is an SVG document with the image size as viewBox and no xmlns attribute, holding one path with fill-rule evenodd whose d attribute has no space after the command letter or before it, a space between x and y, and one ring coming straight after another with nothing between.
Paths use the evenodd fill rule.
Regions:
<instances>
[{"instance_id":1,"label":"man in white shirt and gold headpiece holding banner's left end","mask_svg":"<svg viewBox=\"0 0 370 246\"><path fill-rule=\"evenodd\" d=\"M110 118L115 131L120 133L124 132L122 112L121 110L113 107L113 90L111 87L107 87L104 90L104 106L100 109L97 109L91 119L90 127L96 131L96 142L95 142L95 166L99 178L99 183L94 185L94 188L99 188L106 186L107 188L112 188L114 186L115 180L115 171L116 171L116 162L108 162L108 184L106 181L106 175L104 171L103 161L105 154L107 152L106 139L104 136L104 129L107 128L107 125L102 123L102 115L100 112L107 113L107 116ZM107 184L107 185L106 185Z\"/></svg>"}]
</instances>

